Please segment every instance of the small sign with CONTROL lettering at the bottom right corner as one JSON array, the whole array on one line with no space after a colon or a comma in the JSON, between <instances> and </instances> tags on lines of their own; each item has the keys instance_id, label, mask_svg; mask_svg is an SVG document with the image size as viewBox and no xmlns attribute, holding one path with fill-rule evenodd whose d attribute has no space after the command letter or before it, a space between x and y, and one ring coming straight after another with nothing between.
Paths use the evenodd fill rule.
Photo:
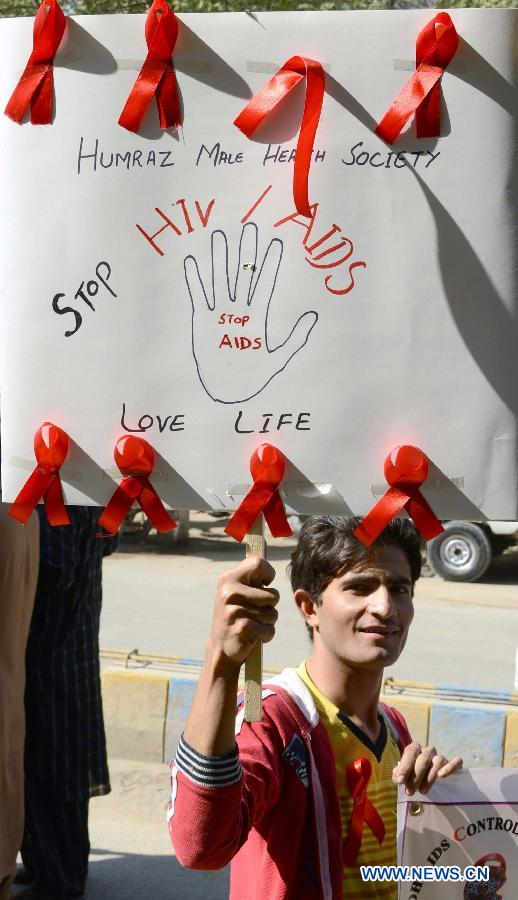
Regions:
<instances>
[{"instance_id":1,"label":"small sign with CONTROL lettering at the bottom right corner","mask_svg":"<svg viewBox=\"0 0 518 900\"><path fill-rule=\"evenodd\" d=\"M426 796L410 798L400 788L398 864L489 870L482 881L402 882L399 900L512 900L518 884L518 769L466 769L436 782Z\"/></svg>"}]
</instances>

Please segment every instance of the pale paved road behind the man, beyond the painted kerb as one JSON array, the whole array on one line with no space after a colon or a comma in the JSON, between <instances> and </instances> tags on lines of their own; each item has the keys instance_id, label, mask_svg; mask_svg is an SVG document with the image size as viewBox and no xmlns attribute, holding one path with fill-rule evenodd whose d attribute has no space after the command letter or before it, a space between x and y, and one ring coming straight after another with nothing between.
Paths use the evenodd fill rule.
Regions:
<instances>
[{"instance_id":1,"label":"pale paved road behind the man, beyond the painted kerb","mask_svg":"<svg viewBox=\"0 0 518 900\"><path fill-rule=\"evenodd\" d=\"M200 514L189 550L170 543L125 547L105 561L101 647L200 659L217 576L243 548L220 519ZM294 543L272 541L268 557L281 592L275 640L265 665L298 663L307 652L302 621L291 599L286 566ZM128 552L129 551L129 552ZM467 688L512 690L518 646L518 553L494 564L482 582L453 584L422 578L416 615L401 660L387 674Z\"/></svg>"}]
</instances>

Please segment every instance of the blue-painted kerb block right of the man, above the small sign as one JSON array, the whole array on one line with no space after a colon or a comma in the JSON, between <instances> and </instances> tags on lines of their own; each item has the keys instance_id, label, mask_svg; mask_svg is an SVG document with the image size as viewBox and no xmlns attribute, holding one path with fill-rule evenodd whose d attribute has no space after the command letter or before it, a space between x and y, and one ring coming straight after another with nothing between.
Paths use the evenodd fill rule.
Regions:
<instances>
[{"instance_id":1,"label":"blue-painted kerb block right of the man, above the small sign","mask_svg":"<svg viewBox=\"0 0 518 900\"><path fill-rule=\"evenodd\" d=\"M437 703L432 706L428 743L448 759L462 756L464 768L501 766L506 711Z\"/></svg>"}]
</instances>

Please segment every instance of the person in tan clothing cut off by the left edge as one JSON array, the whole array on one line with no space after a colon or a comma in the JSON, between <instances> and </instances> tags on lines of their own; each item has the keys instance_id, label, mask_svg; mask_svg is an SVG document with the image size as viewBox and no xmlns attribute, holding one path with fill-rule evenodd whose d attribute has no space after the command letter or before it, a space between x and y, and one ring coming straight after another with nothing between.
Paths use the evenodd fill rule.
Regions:
<instances>
[{"instance_id":1,"label":"person in tan clothing cut off by the left edge","mask_svg":"<svg viewBox=\"0 0 518 900\"><path fill-rule=\"evenodd\" d=\"M0 502L0 900L11 896L23 831L25 647L38 559L36 514L20 525Z\"/></svg>"}]
</instances>

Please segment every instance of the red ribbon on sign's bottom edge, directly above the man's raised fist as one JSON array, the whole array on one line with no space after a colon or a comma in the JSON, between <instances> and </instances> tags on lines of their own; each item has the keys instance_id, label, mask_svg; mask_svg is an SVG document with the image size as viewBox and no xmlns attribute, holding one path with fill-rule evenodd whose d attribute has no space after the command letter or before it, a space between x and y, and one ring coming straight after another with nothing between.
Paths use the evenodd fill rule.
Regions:
<instances>
[{"instance_id":1,"label":"red ribbon on sign's bottom edge, directly above the man's raised fist","mask_svg":"<svg viewBox=\"0 0 518 900\"><path fill-rule=\"evenodd\" d=\"M242 500L225 531L242 541L257 517L264 513L273 537L293 534L286 518L278 487L284 478L286 460L271 444L261 444L250 458L250 472L254 483Z\"/></svg>"}]
</instances>

